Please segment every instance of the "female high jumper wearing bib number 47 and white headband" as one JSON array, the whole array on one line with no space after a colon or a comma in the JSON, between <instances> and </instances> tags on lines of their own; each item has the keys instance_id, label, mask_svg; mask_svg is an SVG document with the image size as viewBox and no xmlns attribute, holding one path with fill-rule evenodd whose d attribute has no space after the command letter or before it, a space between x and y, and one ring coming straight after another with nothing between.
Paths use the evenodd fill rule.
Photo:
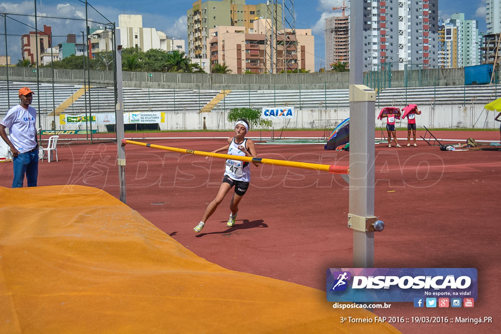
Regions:
<instances>
[{"instance_id":1,"label":"female high jumper wearing bib number 47 and white headband","mask_svg":"<svg viewBox=\"0 0 501 334\"><path fill-rule=\"evenodd\" d=\"M235 124L235 136L228 138L228 144L218 148L212 153L217 153L221 151L228 150L227 154L237 155L241 157L256 157L256 147L254 142L250 139L245 138L245 134L249 130L249 125L246 120L239 120ZM256 167L259 167L258 163L254 163ZM193 230L195 232L200 232L205 221L214 213L217 206L222 202L224 196L229 192L229 190L235 186L235 193L231 198L229 204L229 209L231 213L229 214L227 227L231 227L235 224L236 213L238 212L238 203L242 199L243 195L248 189L250 182L250 166L248 162L243 162L239 160L226 160L226 167L224 170L224 177L222 179L221 186L217 192L216 197L209 203L205 209L202 220L196 225Z\"/></svg>"}]
</instances>

